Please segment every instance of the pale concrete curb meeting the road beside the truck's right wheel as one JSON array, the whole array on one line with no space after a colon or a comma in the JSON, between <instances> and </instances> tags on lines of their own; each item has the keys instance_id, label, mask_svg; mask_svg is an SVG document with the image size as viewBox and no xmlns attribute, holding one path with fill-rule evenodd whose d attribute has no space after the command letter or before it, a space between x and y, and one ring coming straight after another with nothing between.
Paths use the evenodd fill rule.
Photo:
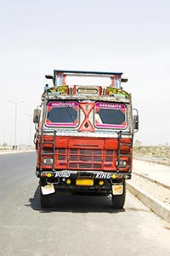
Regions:
<instances>
[{"instance_id":1,"label":"pale concrete curb meeting the road beside the truck's right wheel","mask_svg":"<svg viewBox=\"0 0 170 256\"><path fill-rule=\"evenodd\" d=\"M156 200L156 198L154 198L153 196L146 194L135 185L130 185L128 182L127 190L130 191L134 196L139 198L139 200L143 202L145 206L150 208L150 210L152 210L162 219L165 219L167 222L170 223L170 207Z\"/></svg>"}]
</instances>

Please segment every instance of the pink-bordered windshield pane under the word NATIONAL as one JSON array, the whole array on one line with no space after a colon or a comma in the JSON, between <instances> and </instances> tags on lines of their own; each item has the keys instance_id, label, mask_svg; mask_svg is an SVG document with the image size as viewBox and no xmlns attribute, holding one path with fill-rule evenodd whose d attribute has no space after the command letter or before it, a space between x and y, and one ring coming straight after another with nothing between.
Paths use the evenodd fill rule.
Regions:
<instances>
[{"instance_id":1,"label":"pink-bordered windshield pane under the word NATIONAL","mask_svg":"<svg viewBox=\"0 0 170 256\"><path fill-rule=\"evenodd\" d=\"M77 127L78 103L76 101L51 101L47 105L47 126Z\"/></svg>"}]
</instances>

